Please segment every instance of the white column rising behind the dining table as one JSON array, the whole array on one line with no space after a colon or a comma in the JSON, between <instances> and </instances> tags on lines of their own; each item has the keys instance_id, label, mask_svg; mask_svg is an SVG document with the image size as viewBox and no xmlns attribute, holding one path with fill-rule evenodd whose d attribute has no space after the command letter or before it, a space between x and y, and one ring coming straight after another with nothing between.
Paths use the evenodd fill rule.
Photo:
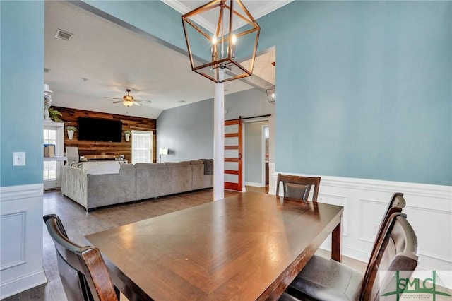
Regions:
<instances>
[{"instance_id":1,"label":"white column rising behind the dining table","mask_svg":"<svg viewBox=\"0 0 452 301\"><path fill-rule=\"evenodd\" d=\"M224 76L220 70L220 79ZM215 83L213 98L213 201L225 197L225 83Z\"/></svg>"}]
</instances>

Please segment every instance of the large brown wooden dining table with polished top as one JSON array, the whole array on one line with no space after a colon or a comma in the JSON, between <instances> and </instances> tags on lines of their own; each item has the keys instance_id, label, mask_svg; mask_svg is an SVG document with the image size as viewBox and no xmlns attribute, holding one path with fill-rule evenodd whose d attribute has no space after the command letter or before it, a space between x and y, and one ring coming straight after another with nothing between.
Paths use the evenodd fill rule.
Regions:
<instances>
[{"instance_id":1,"label":"large brown wooden dining table with polished top","mask_svg":"<svg viewBox=\"0 0 452 301\"><path fill-rule=\"evenodd\" d=\"M129 300L278 300L342 206L249 191L85 237Z\"/></svg>"}]
</instances>

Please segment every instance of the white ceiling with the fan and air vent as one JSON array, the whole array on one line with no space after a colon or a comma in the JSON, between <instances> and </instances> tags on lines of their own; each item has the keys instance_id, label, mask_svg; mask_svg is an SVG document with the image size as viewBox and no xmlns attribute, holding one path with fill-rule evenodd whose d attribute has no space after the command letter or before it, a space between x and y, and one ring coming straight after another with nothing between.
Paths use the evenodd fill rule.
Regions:
<instances>
[{"instance_id":1,"label":"white ceiling with the fan and air vent","mask_svg":"<svg viewBox=\"0 0 452 301\"><path fill-rule=\"evenodd\" d=\"M289 1L243 2L254 16L254 11L263 13L265 4L275 9L275 2L285 5ZM173 7L177 3L177 10L186 13L206 1L170 3ZM73 33L71 40L55 37L58 29ZM263 83L261 87L268 88L268 83L275 83L273 61L274 49L256 58L254 85ZM45 1L44 66L50 69L44 75L53 91L53 106L156 119L162 110L214 95L215 84L191 71L186 55L66 1ZM254 88L246 81L225 83L225 93ZM121 102L114 104L114 100L103 98L121 98L126 88L135 98L152 103L125 107Z\"/></svg>"}]
</instances>

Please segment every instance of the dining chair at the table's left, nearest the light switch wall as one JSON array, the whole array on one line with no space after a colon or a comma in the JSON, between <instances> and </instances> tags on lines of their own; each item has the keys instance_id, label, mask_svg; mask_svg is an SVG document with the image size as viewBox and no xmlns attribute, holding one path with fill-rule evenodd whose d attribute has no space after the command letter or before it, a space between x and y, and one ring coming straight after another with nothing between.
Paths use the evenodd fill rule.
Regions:
<instances>
[{"instance_id":1,"label":"dining chair at the table's left, nearest the light switch wall","mask_svg":"<svg viewBox=\"0 0 452 301\"><path fill-rule=\"evenodd\" d=\"M59 276L69 301L117 301L107 266L96 247L81 247L69 240L59 216L43 217L57 250Z\"/></svg>"}]
</instances>

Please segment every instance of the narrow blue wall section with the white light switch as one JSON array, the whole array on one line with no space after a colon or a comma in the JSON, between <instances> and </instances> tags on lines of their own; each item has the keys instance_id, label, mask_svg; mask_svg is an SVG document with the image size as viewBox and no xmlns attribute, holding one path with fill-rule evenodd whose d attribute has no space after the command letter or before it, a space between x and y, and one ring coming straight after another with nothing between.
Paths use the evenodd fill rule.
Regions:
<instances>
[{"instance_id":1,"label":"narrow blue wall section with the white light switch","mask_svg":"<svg viewBox=\"0 0 452 301\"><path fill-rule=\"evenodd\" d=\"M0 1L0 186L42 183L44 1ZM25 166L13 167L13 152Z\"/></svg>"}]
</instances>

